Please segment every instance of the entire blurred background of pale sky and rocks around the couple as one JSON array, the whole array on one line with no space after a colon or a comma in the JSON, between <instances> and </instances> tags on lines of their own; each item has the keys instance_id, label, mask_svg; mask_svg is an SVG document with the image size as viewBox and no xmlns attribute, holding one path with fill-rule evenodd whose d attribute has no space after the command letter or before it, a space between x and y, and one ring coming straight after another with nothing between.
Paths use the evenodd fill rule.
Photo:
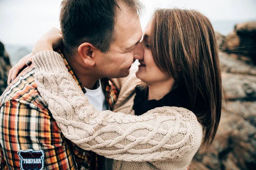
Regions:
<instances>
[{"instance_id":1,"label":"entire blurred background of pale sky and rocks around the couple","mask_svg":"<svg viewBox=\"0 0 256 170\"><path fill-rule=\"evenodd\" d=\"M213 144L201 147L192 170L256 169L256 0L141 0L144 28L156 8L196 9L215 28L224 102ZM50 28L59 26L61 0L0 0L0 94L6 75ZM2 43L1 43L2 42Z\"/></svg>"}]
</instances>

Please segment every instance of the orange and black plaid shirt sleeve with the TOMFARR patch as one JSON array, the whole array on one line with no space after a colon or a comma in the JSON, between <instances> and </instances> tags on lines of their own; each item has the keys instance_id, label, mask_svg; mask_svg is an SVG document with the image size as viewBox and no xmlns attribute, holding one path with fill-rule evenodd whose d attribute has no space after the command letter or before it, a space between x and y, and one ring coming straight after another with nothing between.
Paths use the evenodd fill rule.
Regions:
<instances>
[{"instance_id":1,"label":"orange and black plaid shirt sleeve with the TOMFARR patch","mask_svg":"<svg viewBox=\"0 0 256 170\"><path fill-rule=\"evenodd\" d=\"M39 153L38 159L34 160L37 163L43 161L46 170L76 169L71 142L62 138L61 130L50 113L35 103L11 99L3 104L0 108L0 132L0 167L3 169L22 169L20 164L31 164L31 161L26 162L29 150L32 156Z\"/></svg>"}]
</instances>

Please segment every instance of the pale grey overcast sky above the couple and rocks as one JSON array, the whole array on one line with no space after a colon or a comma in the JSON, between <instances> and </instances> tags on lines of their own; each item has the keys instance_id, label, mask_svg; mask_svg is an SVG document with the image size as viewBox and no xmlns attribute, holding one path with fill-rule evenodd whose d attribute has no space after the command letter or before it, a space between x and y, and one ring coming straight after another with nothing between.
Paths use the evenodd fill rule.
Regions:
<instances>
[{"instance_id":1,"label":"pale grey overcast sky above the couple and rocks","mask_svg":"<svg viewBox=\"0 0 256 170\"><path fill-rule=\"evenodd\" d=\"M209 19L256 20L256 0L141 0L144 28L155 8L197 9ZM5 44L33 45L52 27L59 28L61 0L0 0L0 40Z\"/></svg>"}]
</instances>

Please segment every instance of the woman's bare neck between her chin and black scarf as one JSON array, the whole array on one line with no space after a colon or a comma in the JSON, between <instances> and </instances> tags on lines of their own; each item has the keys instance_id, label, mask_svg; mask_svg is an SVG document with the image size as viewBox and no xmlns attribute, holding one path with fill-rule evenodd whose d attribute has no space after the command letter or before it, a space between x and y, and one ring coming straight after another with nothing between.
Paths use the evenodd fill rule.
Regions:
<instances>
[{"instance_id":1,"label":"woman's bare neck between her chin and black scarf","mask_svg":"<svg viewBox=\"0 0 256 170\"><path fill-rule=\"evenodd\" d=\"M160 100L168 94L174 85L174 79L168 79L164 82L155 82L148 85L148 100Z\"/></svg>"}]
</instances>

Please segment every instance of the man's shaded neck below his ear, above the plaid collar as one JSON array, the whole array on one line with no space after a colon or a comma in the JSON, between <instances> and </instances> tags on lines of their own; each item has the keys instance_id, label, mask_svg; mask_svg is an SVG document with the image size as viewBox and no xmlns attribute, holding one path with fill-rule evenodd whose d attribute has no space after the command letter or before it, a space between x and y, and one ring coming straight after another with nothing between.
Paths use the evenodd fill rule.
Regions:
<instances>
[{"instance_id":1,"label":"man's shaded neck below his ear, above the plaid collar","mask_svg":"<svg viewBox=\"0 0 256 170\"><path fill-rule=\"evenodd\" d=\"M84 68L83 60L78 56L71 56L69 55L65 49L63 51L63 54L65 58L67 59L68 64L72 68L72 70L75 72L77 78L80 80L81 84L90 90L93 90L96 87L97 80L100 79L100 77L96 77L92 71L89 69Z\"/></svg>"}]
</instances>

